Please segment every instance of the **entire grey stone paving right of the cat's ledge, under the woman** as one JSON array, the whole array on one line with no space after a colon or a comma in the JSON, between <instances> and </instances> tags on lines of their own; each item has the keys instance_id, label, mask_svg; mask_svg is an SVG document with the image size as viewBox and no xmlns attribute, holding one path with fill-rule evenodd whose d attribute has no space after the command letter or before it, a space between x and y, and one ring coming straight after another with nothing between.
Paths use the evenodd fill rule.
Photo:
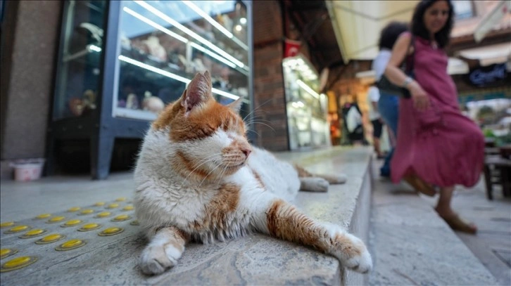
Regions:
<instances>
[{"instance_id":1,"label":"entire grey stone paving right of the cat's ledge, under the woman","mask_svg":"<svg viewBox=\"0 0 511 286\"><path fill-rule=\"evenodd\" d=\"M482 181L458 188L453 207L479 233L455 233L434 212L436 197L381 180L380 164L373 164L370 285L511 285L510 200L487 201Z\"/></svg>"}]
</instances>

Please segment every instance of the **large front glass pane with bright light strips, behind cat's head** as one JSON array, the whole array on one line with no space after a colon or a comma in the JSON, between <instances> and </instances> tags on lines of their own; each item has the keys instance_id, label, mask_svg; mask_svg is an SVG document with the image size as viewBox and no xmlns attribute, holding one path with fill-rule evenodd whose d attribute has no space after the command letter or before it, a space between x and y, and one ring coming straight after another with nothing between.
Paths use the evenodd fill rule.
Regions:
<instances>
[{"instance_id":1,"label":"large front glass pane with bright light strips, behind cat's head","mask_svg":"<svg viewBox=\"0 0 511 286\"><path fill-rule=\"evenodd\" d=\"M113 116L156 119L206 70L217 101L243 97L248 114L247 25L241 1L122 1Z\"/></svg>"}]
</instances>

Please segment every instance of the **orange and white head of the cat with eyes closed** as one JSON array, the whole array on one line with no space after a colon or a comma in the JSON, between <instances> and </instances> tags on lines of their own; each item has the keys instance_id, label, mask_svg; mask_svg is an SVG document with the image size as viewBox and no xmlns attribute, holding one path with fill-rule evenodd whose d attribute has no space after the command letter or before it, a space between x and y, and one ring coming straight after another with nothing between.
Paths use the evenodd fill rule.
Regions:
<instances>
[{"instance_id":1,"label":"orange and white head of the cat with eyes closed","mask_svg":"<svg viewBox=\"0 0 511 286\"><path fill-rule=\"evenodd\" d=\"M195 178L233 174L246 164L251 145L239 116L241 100L221 105L211 96L209 72L197 74L179 100L169 105L153 128L170 126L174 169Z\"/></svg>"}]
</instances>

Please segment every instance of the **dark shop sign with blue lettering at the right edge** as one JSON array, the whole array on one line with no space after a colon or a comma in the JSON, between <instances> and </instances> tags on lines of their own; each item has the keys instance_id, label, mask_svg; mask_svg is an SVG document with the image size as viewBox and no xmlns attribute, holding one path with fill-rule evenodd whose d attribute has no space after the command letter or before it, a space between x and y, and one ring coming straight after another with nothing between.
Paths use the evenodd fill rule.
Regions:
<instances>
[{"instance_id":1,"label":"dark shop sign with blue lettering at the right edge","mask_svg":"<svg viewBox=\"0 0 511 286\"><path fill-rule=\"evenodd\" d=\"M501 86L507 83L507 74L506 64L498 63L470 70L467 79L474 86Z\"/></svg>"}]
</instances>

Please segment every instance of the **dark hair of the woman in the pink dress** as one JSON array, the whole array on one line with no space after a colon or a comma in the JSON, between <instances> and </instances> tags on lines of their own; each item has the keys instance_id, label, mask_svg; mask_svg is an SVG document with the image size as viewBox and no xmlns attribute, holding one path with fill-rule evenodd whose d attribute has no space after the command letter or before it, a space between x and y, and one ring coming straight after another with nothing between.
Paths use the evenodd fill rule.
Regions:
<instances>
[{"instance_id":1,"label":"dark hair of the woman in the pink dress","mask_svg":"<svg viewBox=\"0 0 511 286\"><path fill-rule=\"evenodd\" d=\"M439 0L422 0L415 7L412 18L412 34L415 34L415 36L419 36L427 40L430 39L429 31L426 29L426 26L424 26L424 13L426 13L427 8L431 7L431 5L433 5L436 1ZM449 16L447 18L446 25L443 26L442 30L436 32L434 36L439 48L444 48L447 44L449 44L450 30L453 29L454 23L453 4L450 0L442 1L446 1L449 6Z\"/></svg>"}]
</instances>

